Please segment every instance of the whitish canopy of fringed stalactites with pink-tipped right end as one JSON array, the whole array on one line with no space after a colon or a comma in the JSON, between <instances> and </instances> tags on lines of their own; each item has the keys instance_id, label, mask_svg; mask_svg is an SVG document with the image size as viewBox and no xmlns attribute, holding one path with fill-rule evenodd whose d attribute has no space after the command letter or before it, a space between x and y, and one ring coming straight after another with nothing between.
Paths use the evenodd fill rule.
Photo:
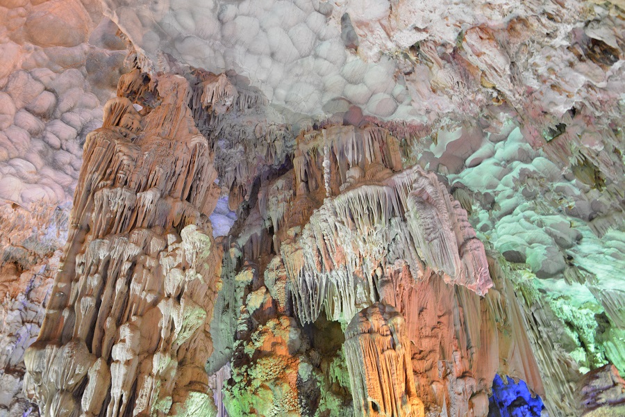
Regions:
<instances>
[{"instance_id":1,"label":"whitish canopy of fringed stalactites with pink-tipped right end","mask_svg":"<svg viewBox=\"0 0 625 417\"><path fill-rule=\"evenodd\" d=\"M314 321L325 306L329 319L347 322L376 301L372 271L387 256L378 242L395 236L414 242L400 249L414 277L424 262L446 281L485 294L492 281L484 247L466 219L435 177L417 168L326 199L299 237L281 246L301 320Z\"/></svg>"}]
</instances>

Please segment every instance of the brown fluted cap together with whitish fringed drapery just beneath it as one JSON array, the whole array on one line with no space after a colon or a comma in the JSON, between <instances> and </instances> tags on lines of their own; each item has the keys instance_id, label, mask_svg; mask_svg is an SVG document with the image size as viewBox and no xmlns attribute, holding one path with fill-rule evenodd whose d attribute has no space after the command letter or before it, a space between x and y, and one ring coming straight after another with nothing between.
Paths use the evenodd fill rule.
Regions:
<instances>
[{"instance_id":1,"label":"brown fluted cap together with whitish fringed drapery just beneath it","mask_svg":"<svg viewBox=\"0 0 625 417\"><path fill-rule=\"evenodd\" d=\"M401 163L397 140L387 131L335 126L300 139L317 161L306 156L294 161L294 204L310 199L319 187L322 179L315 179L315 172L330 184L331 195L339 194L326 197L299 236L281 245L302 321L315 321L324 309L329 319L347 324L358 306L376 301L381 272L397 259L406 260L415 277L431 268L480 295L492 286L484 247L466 211L451 202L434 174L419 167L392 174ZM322 148L324 141L332 146ZM339 163L340 155L347 161ZM326 164L330 158L337 162ZM276 214L285 215L279 209ZM279 233L280 223L292 226L288 221L293 220L301 219L272 219L274 231Z\"/></svg>"}]
</instances>

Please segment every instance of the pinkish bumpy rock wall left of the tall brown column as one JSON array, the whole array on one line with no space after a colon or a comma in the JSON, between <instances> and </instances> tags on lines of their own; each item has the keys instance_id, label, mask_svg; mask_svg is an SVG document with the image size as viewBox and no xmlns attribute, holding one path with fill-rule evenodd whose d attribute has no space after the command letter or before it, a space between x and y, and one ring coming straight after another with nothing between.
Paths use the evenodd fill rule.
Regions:
<instances>
[{"instance_id":1,"label":"pinkish bumpy rock wall left of the tall brown column","mask_svg":"<svg viewBox=\"0 0 625 417\"><path fill-rule=\"evenodd\" d=\"M0 4L0 414L37 412L21 393L23 352L67 240L85 137L124 72L116 31L94 2Z\"/></svg>"}]
</instances>

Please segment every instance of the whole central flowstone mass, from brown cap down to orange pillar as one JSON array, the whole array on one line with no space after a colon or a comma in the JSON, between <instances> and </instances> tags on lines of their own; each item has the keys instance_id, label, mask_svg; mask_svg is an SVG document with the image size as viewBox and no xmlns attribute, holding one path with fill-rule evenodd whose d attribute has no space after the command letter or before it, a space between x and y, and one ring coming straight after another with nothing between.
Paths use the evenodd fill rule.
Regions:
<instances>
[{"instance_id":1,"label":"whole central flowstone mass, from brown cap down to orange pillar","mask_svg":"<svg viewBox=\"0 0 625 417\"><path fill-rule=\"evenodd\" d=\"M480 301L478 294L485 294L493 283L485 250L467 222L465 209L435 174L420 167L402 170L400 161L397 139L385 129L327 126L301 134L292 169L263 179L258 197L249 197L254 205L240 220L240 234L226 256L229 265L241 265L231 284L236 295L229 303L238 305L234 300L243 300L244 332L233 334L233 348L247 346L245 354L234 352L233 357L249 358L233 363L240 371L226 388L231 402L256 402L260 407L263 401L256 384L276 385L273 379L255 382L254 375L260 372L254 359L258 350L251 350L265 345L266 319L254 319L249 303L266 286L274 308L297 317L303 329L330 333L339 328L344 333L342 354L328 352L332 366L324 368L323 360L319 363L315 341L322 336L316 332L302 333L306 342L292 358L300 369L301 363L310 363L313 369L324 370L313 379L318 381L313 388L322 391L319 410L331 403L335 405L330 415L344 415L340 399L346 393L331 391L335 395L331 398L323 394L328 385L335 386L331 369L343 368L349 369L346 385L354 416L376 412L418 416L424 412L418 406L424 399L428 412L442 415L446 410L453 416L487 412L486 390L499 353L493 327L499 318L492 316L500 314L495 309L508 313L508 306L495 304L491 310ZM276 255L269 260L267 253ZM243 281L247 285L240 286ZM369 309L387 312L385 320L397 325L393 332L401 333L394 334L393 340L401 343L390 342L386 330L360 335L360 327L353 323L368 317L367 311L373 311ZM461 316L456 309L463 312ZM365 343L376 335L382 343L378 353L395 358L388 359L384 372L405 373L397 386L381 374L380 361L385 359L370 354L375 342ZM519 334L515 341L506 342L510 352L502 347L501 353L516 363L527 352L526 345L517 344L524 341ZM369 354L363 353L361 344L370 347ZM511 373L526 377L524 372L535 372L532 365ZM371 395L376 405L369 404ZM298 410L306 415L306 408Z\"/></svg>"}]
</instances>

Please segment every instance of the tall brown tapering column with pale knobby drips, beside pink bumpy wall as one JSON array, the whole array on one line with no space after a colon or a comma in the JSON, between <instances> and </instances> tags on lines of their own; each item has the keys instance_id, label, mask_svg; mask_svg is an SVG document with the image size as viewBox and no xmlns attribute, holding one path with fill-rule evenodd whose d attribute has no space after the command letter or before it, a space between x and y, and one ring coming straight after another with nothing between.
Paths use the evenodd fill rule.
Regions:
<instances>
[{"instance_id":1,"label":"tall brown tapering column with pale knobby drips, beside pink bumpy wall","mask_svg":"<svg viewBox=\"0 0 625 417\"><path fill-rule=\"evenodd\" d=\"M187 81L156 82L160 106L140 117L125 97L110 101L85 144L69 243L25 358L26 390L47 416L213 412L203 366L216 173Z\"/></svg>"}]
</instances>

